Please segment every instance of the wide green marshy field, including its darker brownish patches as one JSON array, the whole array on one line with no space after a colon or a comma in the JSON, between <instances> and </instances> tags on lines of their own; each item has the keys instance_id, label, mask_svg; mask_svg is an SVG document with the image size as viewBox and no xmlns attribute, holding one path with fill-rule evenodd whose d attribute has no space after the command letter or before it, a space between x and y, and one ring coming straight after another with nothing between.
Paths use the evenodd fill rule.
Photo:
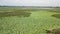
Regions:
<instances>
[{"instance_id":1,"label":"wide green marshy field, including its darker brownish patches","mask_svg":"<svg viewBox=\"0 0 60 34\"><path fill-rule=\"evenodd\" d=\"M0 8L0 34L46 34L47 29L60 28L59 11Z\"/></svg>"}]
</instances>

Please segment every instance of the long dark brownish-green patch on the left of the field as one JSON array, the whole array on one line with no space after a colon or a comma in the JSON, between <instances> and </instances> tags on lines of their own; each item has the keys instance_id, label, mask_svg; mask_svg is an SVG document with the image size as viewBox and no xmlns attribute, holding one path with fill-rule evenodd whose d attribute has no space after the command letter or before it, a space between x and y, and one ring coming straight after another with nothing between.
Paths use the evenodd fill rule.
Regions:
<instances>
[{"instance_id":1,"label":"long dark brownish-green patch on the left of the field","mask_svg":"<svg viewBox=\"0 0 60 34\"><path fill-rule=\"evenodd\" d=\"M0 17L10 17L10 16L23 16L23 17L29 17L31 15L30 12L25 11L16 11L16 12L0 12Z\"/></svg>"}]
</instances>

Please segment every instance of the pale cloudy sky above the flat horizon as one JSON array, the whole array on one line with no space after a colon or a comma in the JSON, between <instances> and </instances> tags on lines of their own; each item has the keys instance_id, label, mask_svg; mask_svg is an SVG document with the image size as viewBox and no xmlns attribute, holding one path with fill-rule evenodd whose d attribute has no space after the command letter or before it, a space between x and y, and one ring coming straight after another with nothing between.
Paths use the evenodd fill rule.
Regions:
<instances>
[{"instance_id":1,"label":"pale cloudy sky above the flat horizon","mask_svg":"<svg viewBox=\"0 0 60 34\"><path fill-rule=\"evenodd\" d=\"M0 0L7 6L60 6L60 0Z\"/></svg>"}]
</instances>

